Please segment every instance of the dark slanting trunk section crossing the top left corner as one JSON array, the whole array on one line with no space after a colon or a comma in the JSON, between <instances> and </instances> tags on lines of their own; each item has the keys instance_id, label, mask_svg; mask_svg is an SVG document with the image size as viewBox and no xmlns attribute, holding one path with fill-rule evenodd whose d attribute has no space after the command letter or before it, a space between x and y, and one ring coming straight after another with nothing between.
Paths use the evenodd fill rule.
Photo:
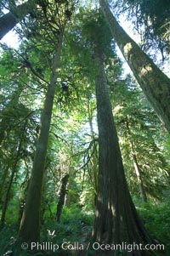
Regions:
<instances>
[{"instance_id":1,"label":"dark slanting trunk section crossing the top left corner","mask_svg":"<svg viewBox=\"0 0 170 256\"><path fill-rule=\"evenodd\" d=\"M22 3L14 9L14 12L8 12L0 18L0 40L12 30L17 23L24 19L26 14L32 11L32 4L35 1L29 0L26 3Z\"/></svg>"}]
</instances>

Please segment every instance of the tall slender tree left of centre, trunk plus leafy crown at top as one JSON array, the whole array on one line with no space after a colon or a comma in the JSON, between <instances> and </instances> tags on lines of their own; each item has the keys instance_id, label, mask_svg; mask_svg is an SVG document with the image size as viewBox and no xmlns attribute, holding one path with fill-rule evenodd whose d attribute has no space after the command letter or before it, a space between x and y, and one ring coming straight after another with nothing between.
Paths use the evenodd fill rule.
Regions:
<instances>
[{"instance_id":1,"label":"tall slender tree left of centre, trunk plus leafy crown at top","mask_svg":"<svg viewBox=\"0 0 170 256\"><path fill-rule=\"evenodd\" d=\"M70 18L68 17L68 15L65 14L65 8L68 8L65 5L59 7L57 3L50 3L48 8L50 10L46 10L47 12L45 14L44 10L42 9L42 16L40 16L40 19L42 19L43 21L47 19L46 22L42 24L40 20L37 20L37 25L40 26L42 30L41 32L43 33L49 28L49 31L51 32L49 37L51 40L51 44L54 47L54 57L52 61L50 81L48 82L48 89L45 95L45 101L42 110L40 133L37 139L37 149L31 172L30 185L26 197L26 208L24 210L20 223L20 240L25 242L37 241L40 236L42 186L48 148L48 134L54 105L54 95L56 92L57 71L59 68L64 29L66 21L68 20L68 18ZM51 26L51 23L49 22L49 17L47 18L46 16L48 12L50 13L50 18L53 18L53 26ZM53 17L52 14L54 14ZM58 37L56 37L56 35L58 35ZM49 39L48 37L40 38L42 39L41 43L44 43L43 40Z\"/></svg>"}]
</instances>

